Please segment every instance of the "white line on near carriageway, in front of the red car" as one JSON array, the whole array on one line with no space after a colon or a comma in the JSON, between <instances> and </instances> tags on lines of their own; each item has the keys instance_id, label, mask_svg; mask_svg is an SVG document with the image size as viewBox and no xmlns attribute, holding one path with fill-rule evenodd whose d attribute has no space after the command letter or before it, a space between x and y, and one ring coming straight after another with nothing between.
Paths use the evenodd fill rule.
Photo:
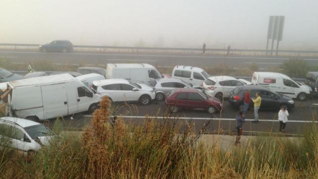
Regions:
<instances>
[{"instance_id":1,"label":"white line on near carriageway, in front of the red car","mask_svg":"<svg viewBox=\"0 0 318 179\"><path fill-rule=\"evenodd\" d=\"M83 115L83 117L91 117L91 115ZM113 117L113 116L110 116ZM119 117L119 116L118 116ZM145 116L120 116L123 118L146 118ZM163 119L165 117L156 117L156 116L149 116L148 118L152 119ZM174 117L171 117L174 118ZM176 117L178 119L195 119L195 120L225 120L225 121L235 121L234 118L207 118L207 117ZM254 119L245 119L246 121L254 121ZM264 122L279 122L279 120L272 120L272 119L259 119L258 121L264 121ZM288 120L288 122L302 122L302 123L311 123L315 122L318 123L318 121L302 121L302 120Z\"/></svg>"}]
</instances>

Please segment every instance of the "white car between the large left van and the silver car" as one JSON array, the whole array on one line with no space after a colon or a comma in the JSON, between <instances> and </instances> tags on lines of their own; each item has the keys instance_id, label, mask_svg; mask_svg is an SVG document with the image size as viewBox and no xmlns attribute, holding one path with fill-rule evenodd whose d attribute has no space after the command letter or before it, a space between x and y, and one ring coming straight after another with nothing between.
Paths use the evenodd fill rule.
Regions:
<instances>
[{"instance_id":1,"label":"white car between the large left van and the silver car","mask_svg":"<svg viewBox=\"0 0 318 179\"><path fill-rule=\"evenodd\" d=\"M92 89L102 96L109 96L113 102L139 101L142 105L147 105L156 97L152 87L131 83L125 79L94 81Z\"/></svg>"}]
</instances>

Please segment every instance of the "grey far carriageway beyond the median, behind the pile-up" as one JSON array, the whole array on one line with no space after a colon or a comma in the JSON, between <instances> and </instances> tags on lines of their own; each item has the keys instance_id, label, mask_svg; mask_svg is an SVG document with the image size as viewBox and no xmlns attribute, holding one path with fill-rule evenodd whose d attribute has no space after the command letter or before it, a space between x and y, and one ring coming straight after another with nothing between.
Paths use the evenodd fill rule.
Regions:
<instances>
[{"instance_id":1,"label":"grey far carriageway beyond the median, behind the pile-up","mask_svg":"<svg viewBox=\"0 0 318 179\"><path fill-rule=\"evenodd\" d=\"M123 53L123 52L73 52L73 53L42 53L26 50L0 50L0 57L12 62L32 60L49 60L58 64L87 64L105 65L107 63L148 63L161 67L175 65L191 65L200 67L213 67L217 64L227 64L230 68L248 68L255 63L261 70L281 65L291 57L283 56L224 56L199 55L186 53ZM318 57L304 57L309 64L318 64Z\"/></svg>"}]
</instances>

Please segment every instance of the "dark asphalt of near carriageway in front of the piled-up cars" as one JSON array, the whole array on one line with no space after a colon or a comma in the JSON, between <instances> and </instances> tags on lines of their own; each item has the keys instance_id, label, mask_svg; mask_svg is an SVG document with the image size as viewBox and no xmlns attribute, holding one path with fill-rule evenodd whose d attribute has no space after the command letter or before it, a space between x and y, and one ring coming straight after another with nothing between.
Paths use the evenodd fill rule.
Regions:
<instances>
[{"instance_id":1,"label":"dark asphalt of near carriageway in front of the piled-up cars","mask_svg":"<svg viewBox=\"0 0 318 179\"><path fill-rule=\"evenodd\" d=\"M313 118L316 118L318 111L318 99L308 99L307 101L295 101L295 108L290 111L289 121L286 127L286 133L288 134L303 134L307 127L311 125L318 125L317 120L313 122ZM146 115L149 115L152 120L164 120L166 116L166 104L164 101L154 101L150 105L141 106L136 103L128 105L115 104L116 115L123 116L127 123L134 125L142 125L146 119ZM317 106L317 109L316 109ZM223 111L211 115L206 111L179 111L172 113L171 118L168 121L177 121L182 123L183 127L180 130L184 130L186 123L193 125L193 132L199 132L208 123L204 132L215 132L219 129L224 130L224 134L228 134L227 131L234 131L236 122L235 116L238 109L233 108L228 101L224 102ZM248 112L246 116L246 123L243 125L245 134L266 134L269 132L278 132L279 122L277 120L277 111L259 111L259 122L252 123L253 112ZM77 114L73 119L70 117L65 118L64 126L68 128L80 129L85 126L91 119L91 115L88 113ZM54 121L51 121L52 126ZM233 132L232 132L233 134Z\"/></svg>"}]
</instances>

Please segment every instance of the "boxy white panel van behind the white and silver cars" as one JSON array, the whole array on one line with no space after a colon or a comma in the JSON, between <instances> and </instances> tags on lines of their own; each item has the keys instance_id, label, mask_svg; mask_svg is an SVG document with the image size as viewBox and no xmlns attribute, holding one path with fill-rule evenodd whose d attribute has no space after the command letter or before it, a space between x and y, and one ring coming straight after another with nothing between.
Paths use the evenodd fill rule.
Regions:
<instances>
[{"instance_id":1,"label":"boxy white panel van behind the white and silver cars","mask_svg":"<svg viewBox=\"0 0 318 179\"><path fill-rule=\"evenodd\" d=\"M149 64L107 64L106 79L126 79L133 83L155 86L163 75Z\"/></svg>"}]
</instances>

